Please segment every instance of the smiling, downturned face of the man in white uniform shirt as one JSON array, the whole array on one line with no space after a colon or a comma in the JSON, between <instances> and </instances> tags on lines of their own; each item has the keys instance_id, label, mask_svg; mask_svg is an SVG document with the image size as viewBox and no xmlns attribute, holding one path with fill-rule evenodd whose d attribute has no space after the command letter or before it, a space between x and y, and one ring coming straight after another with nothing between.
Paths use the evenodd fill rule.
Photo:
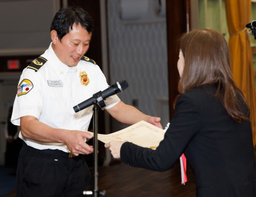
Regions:
<instances>
[{"instance_id":1,"label":"smiling, downturned face of the man in white uniform shirt","mask_svg":"<svg viewBox=\"0 0 256 197\"><path fill-rule=\"evenodd\" d=\"M92 33L80 25L73 25L61 42L55 30L51 32L52 48L59 60L67 66L76 66L81 57L88 51Z\"/></svg>"}]
</instances>

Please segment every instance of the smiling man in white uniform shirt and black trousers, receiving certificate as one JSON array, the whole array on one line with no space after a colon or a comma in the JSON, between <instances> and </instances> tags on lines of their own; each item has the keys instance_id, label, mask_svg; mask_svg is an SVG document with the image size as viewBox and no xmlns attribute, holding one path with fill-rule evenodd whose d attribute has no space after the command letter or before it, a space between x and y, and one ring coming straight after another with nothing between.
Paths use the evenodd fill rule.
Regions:
<instances>
[{"instance_id":1,"label":"smiling man in white uniform shirt and black trousers, receiving certificate","mask_svg":"<svg viewBox=\"0 0 256 197\"><path fill-rule=\"evenodd\" d=\"M73 107L108 88L106 78L93 60L83 56L92 37L92 18L82 8L60 9L51 24L48 50L20 77L12 123L21 126L17 197L82 196L92 189L84 155L94 151L84 138L92 107L75 113ZM151 117L124 104L118 96L106 99L112 117L126 124L145 120L162 127ZM75 157L69 157L72 153Z\"/></svg>"}]
</instances>

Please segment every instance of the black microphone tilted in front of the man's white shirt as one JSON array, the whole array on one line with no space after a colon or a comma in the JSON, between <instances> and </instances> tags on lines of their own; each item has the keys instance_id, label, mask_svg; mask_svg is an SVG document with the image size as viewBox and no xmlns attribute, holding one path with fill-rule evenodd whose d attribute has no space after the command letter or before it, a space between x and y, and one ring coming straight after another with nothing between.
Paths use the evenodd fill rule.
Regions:
<instances>
[{"instance_id":1,"label":"black microphone tilted in front of the man's white shirt","mask_svg":"<svg viewBox=\"0 0 256 197\"><path fill-rule=\"evenodd\" d=\"M73 107L75 112L81 111L82 109L85 109L86 107L89 107L90 105L93 105L94 103L99 102L100 107L106 106L104 103L104 99L108 98L109 96L112 96L114 94L118 94L120 92L123 92L128 87L128 83L126 80L116 82L106 90L103 90L102 92L97 92L94 94L91 98L83 101L82 103L76 105Z\"/></svg>"}]
</instances>

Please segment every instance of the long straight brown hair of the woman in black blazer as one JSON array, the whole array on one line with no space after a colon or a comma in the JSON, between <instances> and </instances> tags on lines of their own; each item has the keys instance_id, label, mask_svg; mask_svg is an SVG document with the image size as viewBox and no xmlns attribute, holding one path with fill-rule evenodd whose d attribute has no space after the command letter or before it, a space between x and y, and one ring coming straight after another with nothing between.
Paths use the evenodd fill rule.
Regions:
<instances>
[{"instance_id":1,"label":"long straight brown hair of the woman in black blazer","mask_svg":"<svg viewBox=\"0 0 256 197\"><path fill-rule=\"evenodd\" d=\"M180 94L203 84L217 84L216 96L237 122L248 120L240 109L246 99L234 83L228 44L214 29L192 30L180 38L184 70L178 84Z\"/></svg>"}]
</instances>

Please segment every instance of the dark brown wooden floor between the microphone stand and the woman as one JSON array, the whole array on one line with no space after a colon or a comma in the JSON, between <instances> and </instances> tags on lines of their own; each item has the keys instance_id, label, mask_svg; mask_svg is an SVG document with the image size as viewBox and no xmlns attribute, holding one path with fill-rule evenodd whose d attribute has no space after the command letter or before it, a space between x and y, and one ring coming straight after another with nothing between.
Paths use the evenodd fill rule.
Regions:
<instances>
[{"instance_id":1,"label":"dark brown wooden floor between the microphone stand and the woman","mask_svg":"<svg viewBox=\"0 0 256 197\"><path fill-rule=\"evenodd\" d=\"M256 148L254 149L256 157ZM0 184L3 180L0 167ZM93 169L91 169L93 172ZM106 191L106 197L195 197L196 186L194 175L188 167L188 182L181 185L180 164L165 172L155 172L141 168L134 168L113 160L109 167L98 167L100 191ZM92 173L93 174L93 173ZM6 176L7 177L7 176ZM12 177L13 178L13 177ZM10 193L0 197L15 197L14 183L9 185ZM1 186L1 185L0 185ZM0 187L1 190L2 187ZM82 195L81 191L81 197ZM92 195L88 195L92 196Z\"/></svg>"}]
</instances>

